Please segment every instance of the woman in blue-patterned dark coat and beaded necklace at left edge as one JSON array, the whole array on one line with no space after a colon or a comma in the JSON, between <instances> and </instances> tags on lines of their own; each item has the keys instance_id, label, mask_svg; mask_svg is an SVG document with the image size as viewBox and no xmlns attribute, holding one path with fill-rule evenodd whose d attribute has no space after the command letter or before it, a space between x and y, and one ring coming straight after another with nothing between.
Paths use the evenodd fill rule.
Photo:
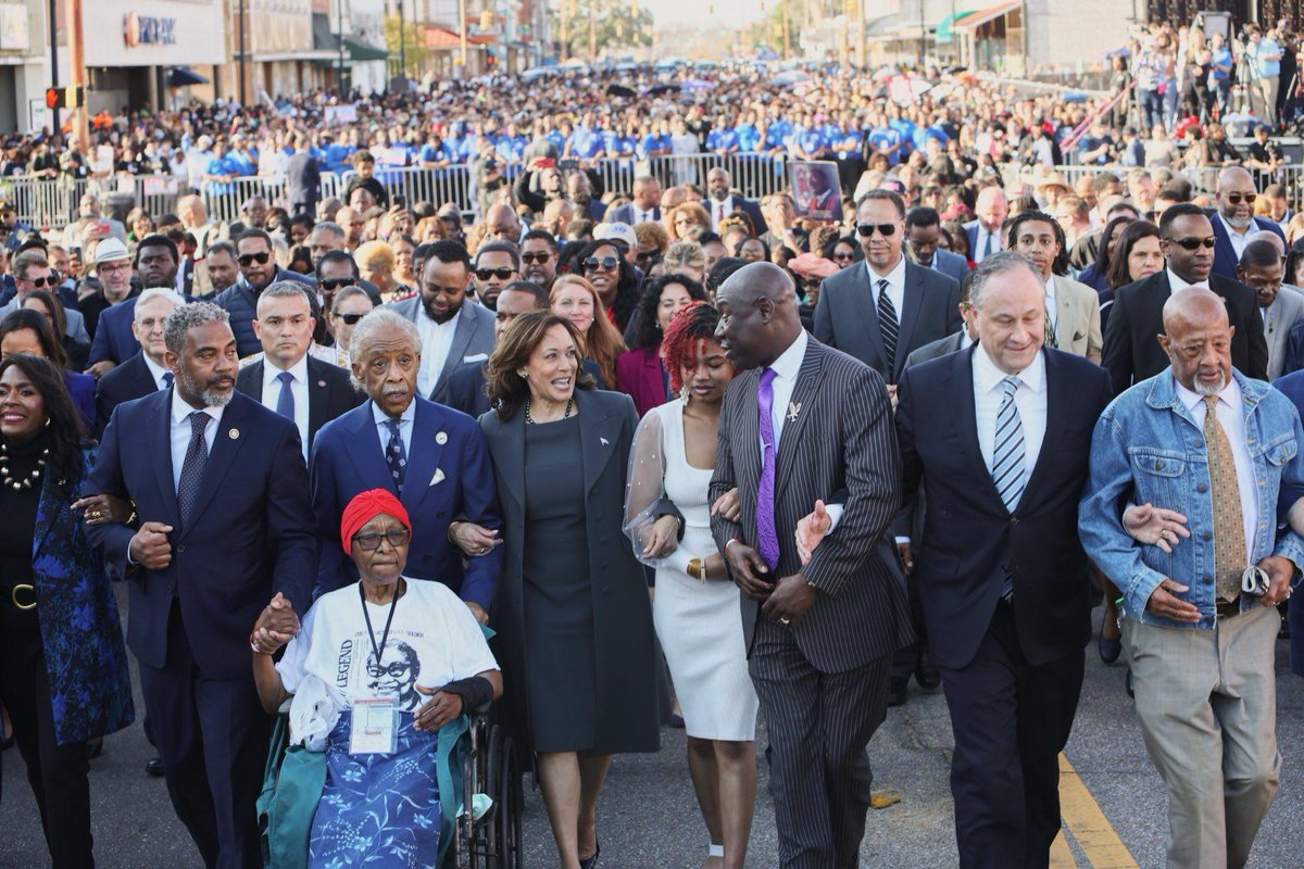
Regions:
<instances>
[{"instance_id":1,"label":"woman in blue-patterned dark coat and beaded necklace at left edge","mask_svg":"<svg viewBox=\"0 0 1304 869\"><path fill-rule=\"evenodd\" d=\"M56 869L94 865L86 741L134 718L113 590L74 502L95 459L83 431L52 363L0 362L0 702Z\"/></svg>"}]
</instances>

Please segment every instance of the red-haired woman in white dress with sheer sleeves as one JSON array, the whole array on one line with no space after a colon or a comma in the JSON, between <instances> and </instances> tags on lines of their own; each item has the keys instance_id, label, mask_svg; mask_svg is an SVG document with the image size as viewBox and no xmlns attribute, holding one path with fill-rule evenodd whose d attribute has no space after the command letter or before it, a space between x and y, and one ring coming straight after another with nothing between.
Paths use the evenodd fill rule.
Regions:
<instances>
[{"instance_id":1,"label":"red-haired woman in white dress with sheer sleeves","mask_svg":"<svg viewBox=\"0 0 1304 869\"><path fill-rule=\"evenodd\" d=\"M625 530L656 568L652 616L689 735L689 770L711 847L708 869L742 869L756 800L756 692L747 675L738 588L711 537L707 489L733 365L716 343L720 314L694 302L661 341L679 400L653 408L630 453ZM724 500L724 499L721 499ZM679 520L670 506L683 516ZM717 504L717 509L737 509Z\"/></svg>"}]
</instances>

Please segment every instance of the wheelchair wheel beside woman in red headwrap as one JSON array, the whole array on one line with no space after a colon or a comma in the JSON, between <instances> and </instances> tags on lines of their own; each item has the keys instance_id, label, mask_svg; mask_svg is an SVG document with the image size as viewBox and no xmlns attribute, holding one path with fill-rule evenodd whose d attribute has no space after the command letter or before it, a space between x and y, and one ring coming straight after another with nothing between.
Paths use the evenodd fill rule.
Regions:
<instances>
[{"instance_id":1,"label":"wheelchair wheel beside woman in red headwrap","mask_svg":"<svg viewBox=\"0 0 1304 869\"><path fill-rule=\"evenodd\" d=\"M468 717L458 740L462 782L442 869L519 869L523 865L520 761L511 736L490 722L489 706ZM484 800L490 803L476 817Z\"/></svg>"}]
</instances>

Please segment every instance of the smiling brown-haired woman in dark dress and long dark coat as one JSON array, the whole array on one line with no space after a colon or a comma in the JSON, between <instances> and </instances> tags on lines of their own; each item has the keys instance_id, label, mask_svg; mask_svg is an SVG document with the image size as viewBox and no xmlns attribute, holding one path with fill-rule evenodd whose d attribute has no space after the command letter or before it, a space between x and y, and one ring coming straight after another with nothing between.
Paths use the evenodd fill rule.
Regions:
<instances>
[{"instance_id":1,"label":"smiling brown-haired woman in dark dress and long dark coat","mask_svg":"<svg viewBox=\"0 0 1304 869\"><path fill-rule=\"evenodd\" d=\"M493 606L505 711L536 756L565 869L596 862L610 756L659 743L652 611L621 530L639 420L629 396L593 391L579 345L556 314L518 317L480 418L507 547Z\"/></svg>"}]
</instances>

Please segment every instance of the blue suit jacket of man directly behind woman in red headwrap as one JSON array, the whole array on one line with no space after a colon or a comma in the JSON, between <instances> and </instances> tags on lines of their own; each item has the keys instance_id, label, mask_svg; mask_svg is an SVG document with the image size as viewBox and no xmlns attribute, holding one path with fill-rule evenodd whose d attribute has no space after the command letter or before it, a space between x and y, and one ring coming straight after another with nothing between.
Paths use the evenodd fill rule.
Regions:
<instances>
[{"instance_id":1,"label":"blue suit jacket of man directly behind woman in red headwrap","mask_svg":"<svg viewBox=\"0 0 1304 869\"><path fill-rule=\"evenodd\" d=\"M466 520L502 528L493 468L475 420L416 397L416 421L400 500L412 517L406 576L438 580L463 601L485 611L502 568L502 547L468 560L449 542L449 525ZM389 489L398 495L385 443L370 400L327 422L313 444L312 498L321 546L317 591L323 594L357 578L357 568L339 542L339 517L353 495ZM441 443L442 440L442 443Z\"/></svg>"}]
</instances>

